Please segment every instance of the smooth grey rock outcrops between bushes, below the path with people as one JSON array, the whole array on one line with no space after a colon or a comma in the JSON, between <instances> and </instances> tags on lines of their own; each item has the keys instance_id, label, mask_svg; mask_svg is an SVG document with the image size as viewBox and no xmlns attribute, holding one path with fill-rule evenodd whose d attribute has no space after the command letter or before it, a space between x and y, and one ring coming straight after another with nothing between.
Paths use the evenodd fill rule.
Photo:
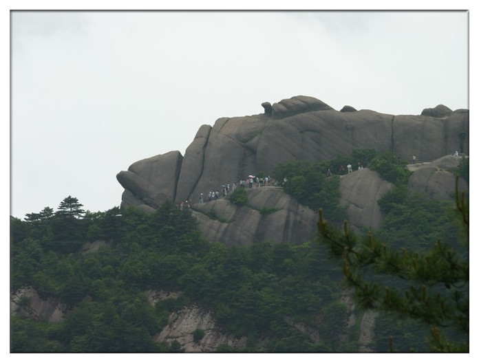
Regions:
<instances>
[{"instance_id":1,"label":"smooth grey rock outcrops between bushes, below the path with people","mask_svg":"<svg viewBox=\"0 0 479 363\"><path fill-rule=\"evenodd\" d=\"M432 162L411 164L411 192L425 192L434 199L452 200L456 177L451 173L460 158L446 155ZM460 190L469 192L460 179ZM394 188L389 181L368 168L343 175L339 184L340 205L355 230L377 229L383 220L378 201ZM248 206L238 207L228 197L206 203L194 203L193 215L198 228L209 241L226 245L251 245L260 241L304 243L316 232L317 211L302 206L282 188L259 187L248 190ZM269 213L262 213L269 210Z\"/></svg>"}]
</instances>

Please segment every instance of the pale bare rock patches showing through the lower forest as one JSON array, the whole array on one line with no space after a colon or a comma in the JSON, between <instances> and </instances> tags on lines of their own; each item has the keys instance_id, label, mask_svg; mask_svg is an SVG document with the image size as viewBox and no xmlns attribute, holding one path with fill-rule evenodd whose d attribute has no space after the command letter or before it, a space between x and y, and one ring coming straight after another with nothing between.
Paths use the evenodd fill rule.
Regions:
<instances>
[{"instance_id":1,"label":"pale bare rock patches showing through the lower forest","mask_svg":"<svg viewBox=\"0 0 479 363\"><path fill-rule=\"evenodd\" d=\"M178 298L181 292L149 290L145 294L151 305L154 306L160 300ZM348 322L343 327L341 335L344 342L347 342L353 333L356 321L359 322L359 351L370 351L370 344L372 344L374 337L374 314L376 313L374 311L365 311L364 313L356 311L351 295L352 292L347 291L341 298L348 312ZM51 298L43 300L32 287L24 287L10 295L10 314L22 314L34 320L47 320L54 323L63 321L65 314L68 313L69 311L65 305ZM305 333L312 342L318 343L323 340L315 327L295 322L287 316L284 320L291 327ZM204 336L195 341L193 332L197 329L202 330ZM167 344L176 341L186 353L214 352L219 347L226 345L231 348L242 349L246 347L247 343L246 337L235 337L218 327L214 311L206 310L195 304L185 305L181 309L173 311L169 315L167 325L161 331L158 331L153 339ZM255 349L265 351L267 342L267 337L259 339Z\"/></svg>"}]
</instances>

